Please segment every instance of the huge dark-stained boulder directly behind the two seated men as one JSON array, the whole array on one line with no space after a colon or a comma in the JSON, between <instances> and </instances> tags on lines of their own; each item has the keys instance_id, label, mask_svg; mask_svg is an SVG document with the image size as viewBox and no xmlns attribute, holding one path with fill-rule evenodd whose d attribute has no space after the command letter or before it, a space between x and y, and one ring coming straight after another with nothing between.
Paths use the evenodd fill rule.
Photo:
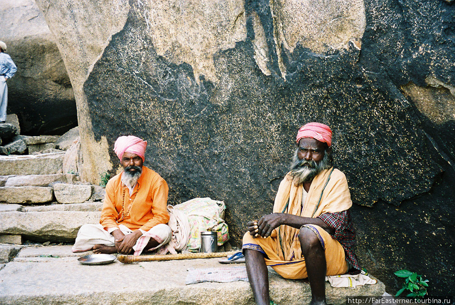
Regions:
<instances>
[{"instance_id":1,"label":"huge dark-stained boulder directly behind the two seated men","mask_svg":"<svg viewBox=\"0 0 455 305\"><path fill-rule=\"evenodd\" d=\"M149 142L145 164L168 182L169 202L224 200L231 236L240 243L246 222L271 211L297 129L321 121L334 131L336 166L346 173L354 203L373 207L371 217L385 224L399 207L397 216L413 224L383 226L376 236L378 228L361 221L368 208L358 207L359 236L375 236L360 238L361 262L398 267L382 259L397 262L393 252L400 248L405 258L398 268L429 262L429 275L438 277L433 289L447 294L453 225L437 208L428 213L440 224L441 242L428 239L427 249L442 244L452 253L442 262L433 253L413 258L416 244L361 249L375 249L401 230L427 234L425 217L408 216L400 203L455 183L451 3L37 4L70 71L83 179L95 182L116 170L118 136L142 137ZM434 201L453 207L453 187L447 189L452 197ZM381 280L396 290L392 277Z\"/></svg>"}]
</instances>

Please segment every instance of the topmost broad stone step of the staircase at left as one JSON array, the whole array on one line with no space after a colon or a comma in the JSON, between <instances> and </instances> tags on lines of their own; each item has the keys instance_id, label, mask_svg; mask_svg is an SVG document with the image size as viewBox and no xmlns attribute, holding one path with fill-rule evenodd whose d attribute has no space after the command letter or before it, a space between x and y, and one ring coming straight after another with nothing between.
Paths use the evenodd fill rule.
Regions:
<instances>
[{"instance_id":1,"label":"topmost broad stone step of the staircase at left","mask_svg":"<svg viewBox=\"0 0 455 305\"><path fill-rule=\"evenodd\" d=\"M65 152L24 156L0 156L0 176L62 173Z\"/></svg>"}]
</instances>

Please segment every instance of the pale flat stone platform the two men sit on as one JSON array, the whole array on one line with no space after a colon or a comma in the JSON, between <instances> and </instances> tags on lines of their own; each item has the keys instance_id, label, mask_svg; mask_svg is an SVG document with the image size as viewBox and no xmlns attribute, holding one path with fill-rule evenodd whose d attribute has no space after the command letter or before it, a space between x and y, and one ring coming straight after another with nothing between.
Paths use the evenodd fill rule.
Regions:
<instances>
[{"instance_id":1,"label":"pale flat stone platform the two men sit on","mask_svg":"<svg viewBox=\"0 0 455 305\"><path fill-rule=\"evenodd\" d=\"M4 245L2 245L5 247ZM0 304L204 304L253 305L248 282L206 282L186 285L190 268L225 268L219 258L169 260L163 262L81 265L71 246L24 247L0 270ZM0 265L0 268L2 265ZM280 305L307 304L307 281L286 280L269 270L270 295ZM332 288L326 284L327 300L344 304L349 295L382 295L384 284L355 289Z\"/></svg>"}]
</instances>

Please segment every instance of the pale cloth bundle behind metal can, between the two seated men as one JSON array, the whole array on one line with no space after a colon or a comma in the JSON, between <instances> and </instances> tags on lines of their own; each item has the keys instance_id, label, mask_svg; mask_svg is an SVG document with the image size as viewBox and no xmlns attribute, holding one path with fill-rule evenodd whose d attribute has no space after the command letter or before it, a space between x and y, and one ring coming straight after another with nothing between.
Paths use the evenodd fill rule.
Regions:
<instances>
[{"instance_id":1,"label":"pale cloth bundle behind metal can, between the two seated men","mask_svg":"<svg viewBox=\"0 0 455 305\"><path fill-rule=\"evenodd\" d=\"M208 197L194 198L174 206L168 205L169 227L172 229L170 245L176 251L199 252L201 232L216 231L218 246L221 246L229 240L228 225L223 220L225 208L223 201Z\"/></svg>"}]
</instances>

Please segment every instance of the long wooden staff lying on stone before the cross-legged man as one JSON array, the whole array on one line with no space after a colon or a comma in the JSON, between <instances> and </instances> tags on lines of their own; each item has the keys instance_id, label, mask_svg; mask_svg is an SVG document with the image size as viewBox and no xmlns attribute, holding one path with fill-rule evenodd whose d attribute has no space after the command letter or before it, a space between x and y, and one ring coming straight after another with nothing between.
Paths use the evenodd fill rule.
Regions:
<instances>
[{"instance_id":1,"label":"long wooden staff lying on stone before the cross-legged man","mask_svg":"<svg viewBox=\"0 0 455 305\"><path fill-rule=\"evenodd\" d=\"M117 255L119 262L123 264L131 264L134 262L151 262L152 260L172 260L172 259L194 259L194 258L212 258L212 257L226 257L228 255L235 254L235 251L231 252L214 252L214 253L179 253L179 254L167 254L167 255Z\"/></svg>"}]
</instances>

